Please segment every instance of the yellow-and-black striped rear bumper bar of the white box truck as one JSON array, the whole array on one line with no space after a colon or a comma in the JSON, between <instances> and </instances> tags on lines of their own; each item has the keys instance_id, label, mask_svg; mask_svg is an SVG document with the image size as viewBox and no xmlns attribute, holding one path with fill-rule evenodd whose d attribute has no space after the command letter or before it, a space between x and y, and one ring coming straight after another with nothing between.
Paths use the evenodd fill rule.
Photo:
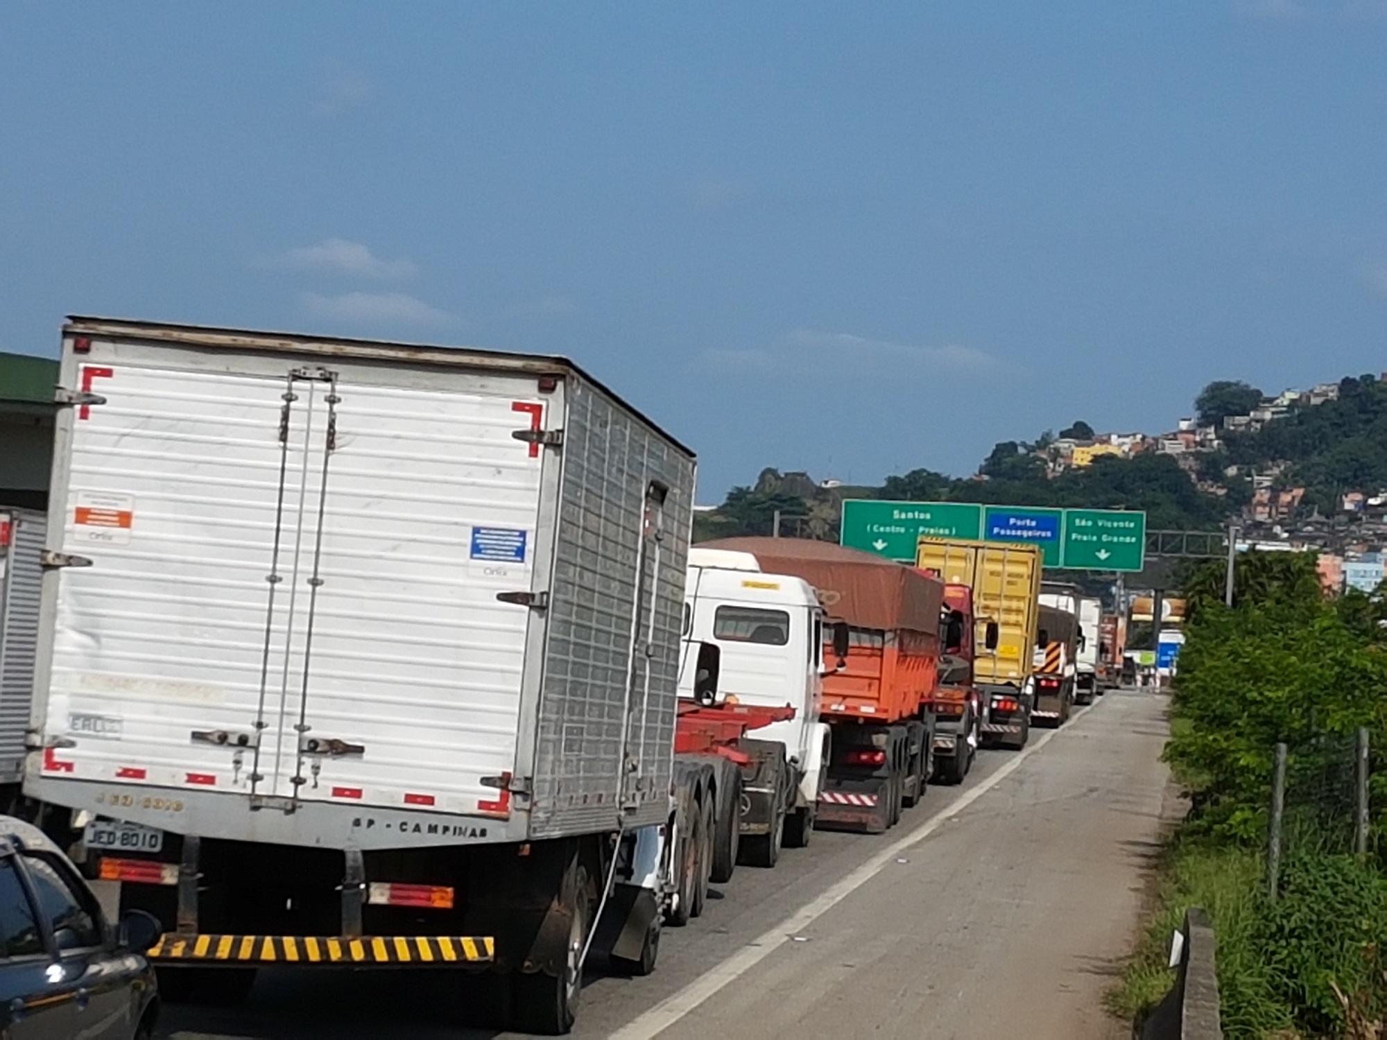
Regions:
<instances>
[{"instance_id":1,"label":"yellow-and-black striped rear bumper bar of the white box truck","mask_svg":"<svg viewBox=\"0 0 1387 1040\"><path fill-rule=\"evenodd\" d=\"M291 936L165 933L150 947L155 964L394 965L447 968L495 960L491 936Z\"/></svg>"}]
</instances>

